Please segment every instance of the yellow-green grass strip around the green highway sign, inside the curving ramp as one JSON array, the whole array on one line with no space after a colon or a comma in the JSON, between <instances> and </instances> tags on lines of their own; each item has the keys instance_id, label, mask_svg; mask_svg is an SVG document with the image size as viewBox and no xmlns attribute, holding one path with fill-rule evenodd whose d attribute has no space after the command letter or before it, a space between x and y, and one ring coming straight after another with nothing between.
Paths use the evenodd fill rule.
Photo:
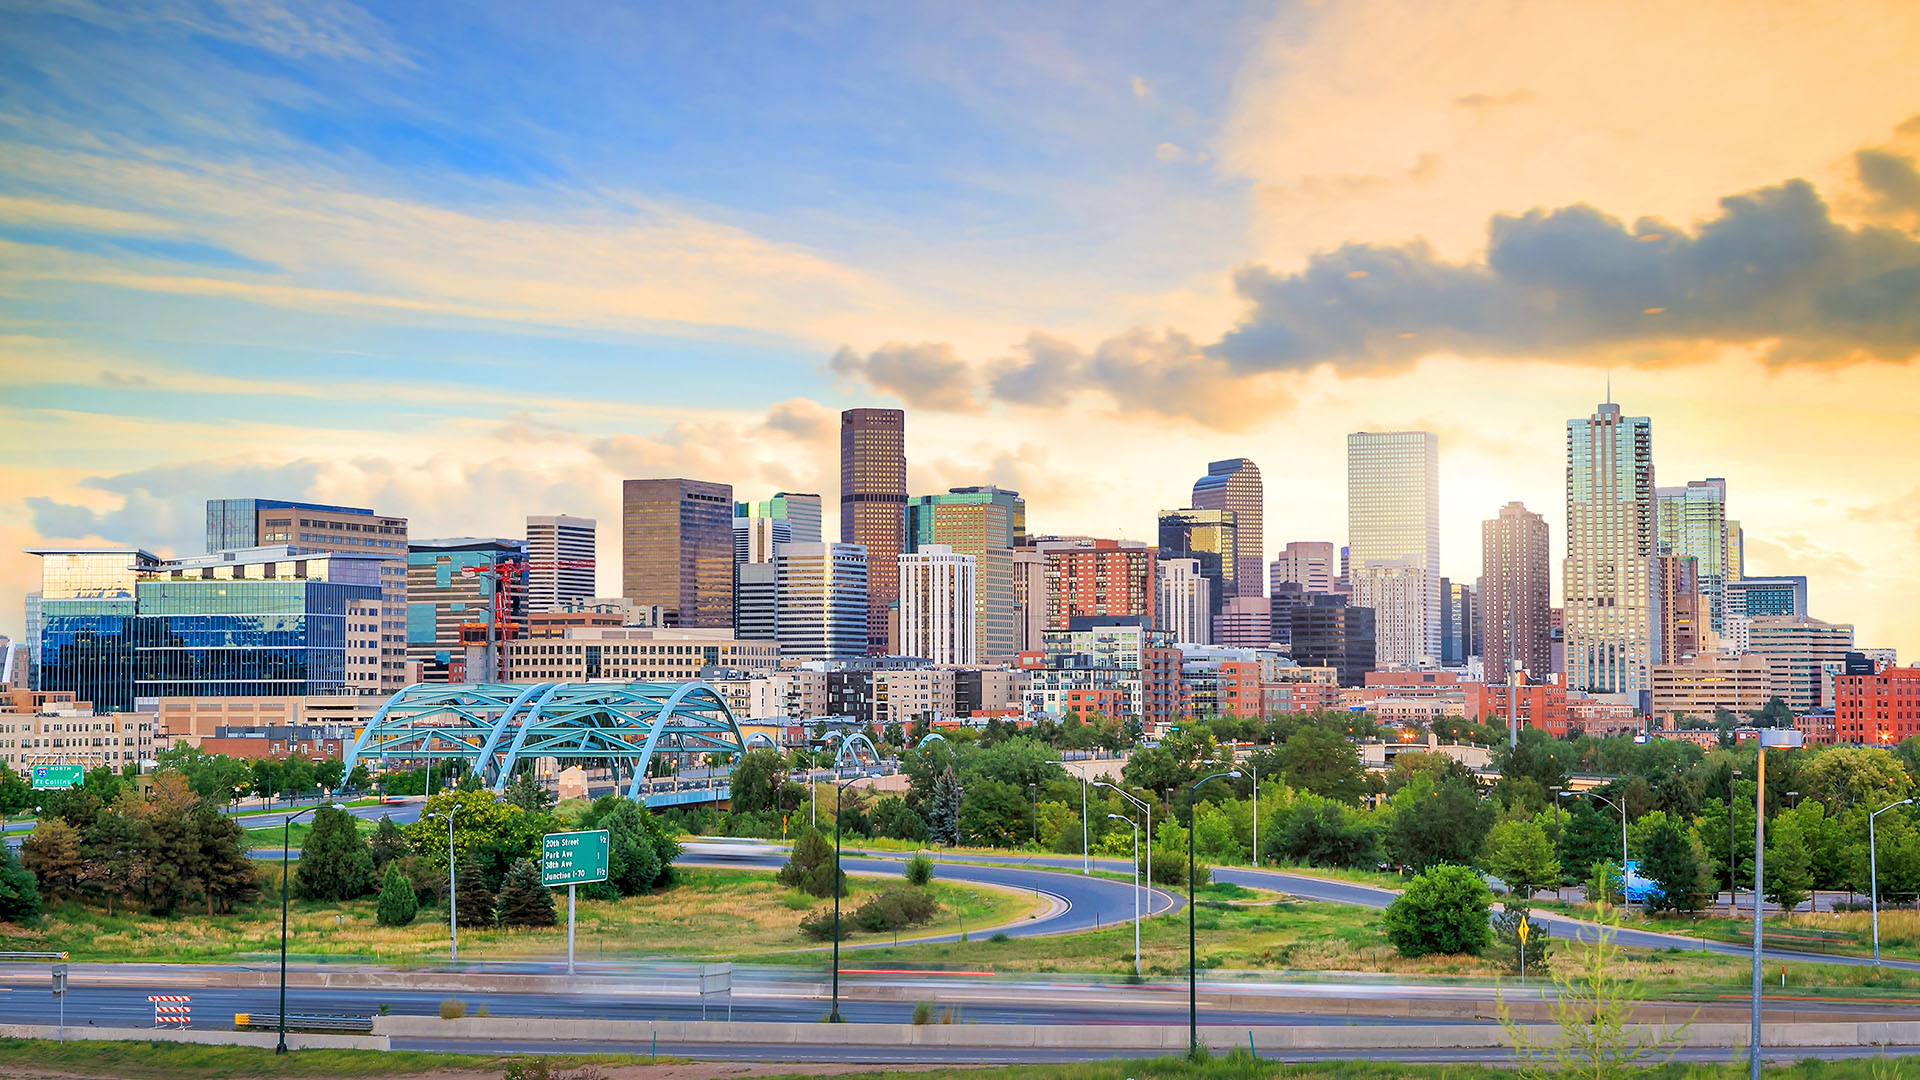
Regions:
<instances>
[{"instance_id":1,"label":"yellow-green grass strip around the green highway sign, inside the curving ramp","mask_svg":"<svg viewBox=\"0 0 1920 1080\"><path fill-rule=\"evenodd\" d=\"M179 911L169 919L79 903L56 905L36 928L13 932L17 949L65 949L73 961L161 961L211 963L278 955L280 903L276 867L275 888L234 915L205 919ZM876 878L852 876L852 896L841 899L851 913L881 888ZM941 915L935 924L912 934L945 934L962 920L968 926L1006 924L1031 915L1035 899L1025 894L979 890L935 880ZM501 930L461 926L461 957L540 957L566 953L566 897L557 896L559 926L540 930ZM772 872L684 869L680 884L655 896L620 901L580 901L578 953L607 957L739 957L793 953L816 942L799 932L801 919L829 899L816 899L778 884ZM294 901L290 911L290 951L300 957L367 959L388 965L432 963L445 957L445 907L420 909L411 926L380 926L374 901L348 903ZM849 942L870 940L852 934Z\"/></svg>"}]
</instances>

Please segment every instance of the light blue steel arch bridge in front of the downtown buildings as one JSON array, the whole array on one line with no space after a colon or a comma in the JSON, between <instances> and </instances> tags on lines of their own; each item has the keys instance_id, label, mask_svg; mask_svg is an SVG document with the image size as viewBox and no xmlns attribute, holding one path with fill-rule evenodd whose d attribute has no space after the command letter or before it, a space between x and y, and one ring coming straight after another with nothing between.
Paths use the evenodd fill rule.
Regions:
<instances>
[{"instance_id":1,"label":"light blue steel arch bridge in front of the downtown buildings","mask_svg":"<svg viewBox=\"0 0 1920 1080\"><path fill-rule=\"evenodd\" d=\"M388 698L353 740L346 769L367 761L465 761L503 790L516 765L605 767L626 796L647 805L720 801L728 780L647 780L659 757L676 769L745 753L739 724L707 682L417 682Z\"/></svg>"}]
</instances>

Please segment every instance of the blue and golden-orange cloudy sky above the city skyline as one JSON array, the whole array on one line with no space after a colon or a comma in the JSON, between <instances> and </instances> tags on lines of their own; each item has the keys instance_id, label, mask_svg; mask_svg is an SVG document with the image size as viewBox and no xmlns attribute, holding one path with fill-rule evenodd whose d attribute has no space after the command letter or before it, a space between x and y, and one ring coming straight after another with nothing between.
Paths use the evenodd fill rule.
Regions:
<instances>
[{"instance_id":1,"label":"blue and golden-orange cloudy sky above the city skyline","mask_svg":"<svg viewBox=\"0 0 1920 1080\"><path fill-rule=\"evenodd\" d=\"M1916 56L1905 0L13 0L0 634L23 548L223 496L589 515L616 594L622 479L831 507L851 405L1035 532L1252 457L1267 557L1432 430L1471 580L1511 500L1561 557L1611 386L1920 661Z\"/></svg>"}]
</instances>

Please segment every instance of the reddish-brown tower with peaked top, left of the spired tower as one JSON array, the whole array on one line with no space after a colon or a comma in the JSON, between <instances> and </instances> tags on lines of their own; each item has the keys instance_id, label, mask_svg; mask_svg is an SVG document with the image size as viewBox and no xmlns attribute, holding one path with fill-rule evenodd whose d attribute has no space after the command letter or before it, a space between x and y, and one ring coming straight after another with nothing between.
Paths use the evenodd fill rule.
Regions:
<instances>
[{"instance_id":1,"label":"reddish-brown tower with peaked top, left of the spired tower","mask_svg":"<svg viewBox=\"0 0 1920 1080\"><path fill-rule=\"evenodd\" d=\"M1553 675L1553 563L1548 519L1509 502L1480 523L1480 634L1488 680L1505 682L1521 661L1528 682Z\"/></svg>"}]
</instances>

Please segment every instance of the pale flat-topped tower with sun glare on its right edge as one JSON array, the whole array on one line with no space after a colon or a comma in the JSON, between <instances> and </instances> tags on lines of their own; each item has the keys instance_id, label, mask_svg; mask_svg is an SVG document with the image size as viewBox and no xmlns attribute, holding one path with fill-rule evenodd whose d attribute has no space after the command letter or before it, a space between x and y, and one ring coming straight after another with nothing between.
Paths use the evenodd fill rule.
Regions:
<instances>
[{"instance_id":1,"label":"pale flat-topped tower with sun glare on its right edge","mask_svg":"<svg viewBox=\"0 0 1920 1080\"><path fill-rule=\"evenodd\" d=\"M1379 665L1440 661L1440 440L1427 430L1346 436L1346 532L1356 607L1375 609Z\"/></svg>"}]
</instances>

